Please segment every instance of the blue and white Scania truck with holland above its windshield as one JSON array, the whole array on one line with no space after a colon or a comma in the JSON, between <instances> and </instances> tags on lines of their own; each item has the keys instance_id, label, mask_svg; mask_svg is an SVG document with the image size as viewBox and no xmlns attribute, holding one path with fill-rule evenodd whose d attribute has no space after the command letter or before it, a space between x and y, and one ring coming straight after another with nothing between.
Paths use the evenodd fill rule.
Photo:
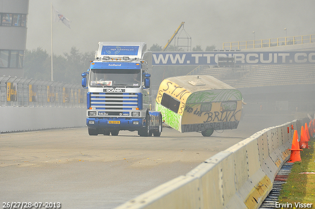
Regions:
<instances>
[{"instance_id":1,"label":"blue and white Scania truck with holland above its windshield","mask_svg":"<svg viewBox=\"0 0 315 209\"><path fill-rule=\"evenodd\" d=\"M120 130L128 130L138 131L140 136L160 136L162 115L151 110L146 44L98 44L95 60L88 72L82 73L82 87L88 89L89 135L117 136Z\"/></svg>"}]
</instances>

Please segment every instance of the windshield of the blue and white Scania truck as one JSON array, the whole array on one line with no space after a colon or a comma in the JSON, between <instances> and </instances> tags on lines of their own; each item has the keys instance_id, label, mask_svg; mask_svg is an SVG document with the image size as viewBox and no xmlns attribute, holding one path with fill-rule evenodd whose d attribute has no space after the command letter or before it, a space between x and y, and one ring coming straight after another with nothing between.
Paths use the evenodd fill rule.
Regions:
<instances>
[{"instance_id":1,"label":"windshield of the blue and white Scania truck","mask_svg":"<svg viewBox=\"0 0 315 209\"><path fill-rule=\"evenodd\" d=\"M140 69L91 69L91 87L139 88Z\"/></svg>"}]
</instances>

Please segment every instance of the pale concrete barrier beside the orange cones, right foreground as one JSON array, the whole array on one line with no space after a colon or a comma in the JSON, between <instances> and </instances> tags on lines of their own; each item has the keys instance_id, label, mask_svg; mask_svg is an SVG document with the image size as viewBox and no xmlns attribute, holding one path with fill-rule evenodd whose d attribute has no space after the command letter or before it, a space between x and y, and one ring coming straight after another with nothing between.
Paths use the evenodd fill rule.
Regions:
<instances>
[{"instance_id":1,"label":"pale concrete barrier beside the orange cones, right foreground","mask_svg":"<svg viewBox=\"0 0 315 209\"><path fill-rule=\"evenodd\" d=\"M263 129L116 209L257 209L290 156L294 130L309 121Z\"/></svg>"}]
</instances>

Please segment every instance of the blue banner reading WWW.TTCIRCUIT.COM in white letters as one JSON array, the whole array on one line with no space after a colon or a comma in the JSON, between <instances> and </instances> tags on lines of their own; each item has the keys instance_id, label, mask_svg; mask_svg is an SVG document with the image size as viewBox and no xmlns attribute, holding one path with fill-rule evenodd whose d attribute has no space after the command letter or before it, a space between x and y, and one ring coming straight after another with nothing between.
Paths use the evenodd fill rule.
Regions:
<instances>
[{"instance_id":1,"label":"blue banner reading WWW.TTCIRCUIT.COM in white letters","mask_svg":"<svg viewBox=\"0 0 315 209\"><path fill-rule=\"evenodd\" d=\"M307 52L153 52L152 65L218 65L218 58L242 64L314 64L315 51Z\"/></svg>"}]
</instances>

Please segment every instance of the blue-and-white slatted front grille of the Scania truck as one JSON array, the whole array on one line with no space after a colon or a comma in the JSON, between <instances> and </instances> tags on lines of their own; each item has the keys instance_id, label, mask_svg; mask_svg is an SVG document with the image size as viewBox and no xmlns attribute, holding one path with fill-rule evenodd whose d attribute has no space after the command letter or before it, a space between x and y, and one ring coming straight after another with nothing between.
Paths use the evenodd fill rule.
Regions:
<instances>
[{"instance_id":1,"label":"blue-and-white slatted front grille of the Scania truck","mask_svg":"<svg viewBox=\"0 0 315 209\"><path fill-rule=\"evenodd\" d=\"M90 107L96 110L132 110L138 107L138 93L92 93Z\"/></svg>"}]
</instances>

